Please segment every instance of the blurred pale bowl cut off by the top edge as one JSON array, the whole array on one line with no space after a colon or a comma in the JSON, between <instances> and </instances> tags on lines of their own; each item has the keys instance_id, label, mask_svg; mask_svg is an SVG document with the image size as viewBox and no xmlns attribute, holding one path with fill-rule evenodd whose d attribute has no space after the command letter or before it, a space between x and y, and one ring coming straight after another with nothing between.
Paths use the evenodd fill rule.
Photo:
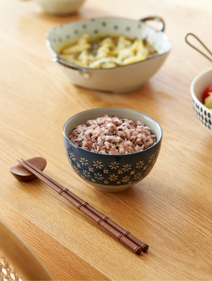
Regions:
<instances>
[{"instance_id":1,"label":"blurred pale bowl cut off by the top edge","mask_svg":"<svg viewBox=\"0 0 212 281\"><path fill-rule=\"evenodd\" d=\"M85 0L34 0L48 14L70 15L75 13Z\"/></svg>"}]
</instances>

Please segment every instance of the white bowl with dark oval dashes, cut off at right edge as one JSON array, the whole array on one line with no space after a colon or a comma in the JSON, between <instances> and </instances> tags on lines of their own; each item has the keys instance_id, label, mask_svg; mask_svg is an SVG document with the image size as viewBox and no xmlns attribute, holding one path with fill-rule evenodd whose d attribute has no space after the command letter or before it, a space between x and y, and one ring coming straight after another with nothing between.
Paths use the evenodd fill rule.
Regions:
<instances>
[{"instance_id":1,"label":"white bowl with dark oval dashes, cut off at right edge","mask_svg":"<svg viewBox=\"0 0 212 281\"><path fill-rule=\"evenodd\" d=\"M197 75L190 87L192 106L199 122L212 134L212 111L203 104L203 92L212 85L212 68Z\"/></svg>"}]
</instances>

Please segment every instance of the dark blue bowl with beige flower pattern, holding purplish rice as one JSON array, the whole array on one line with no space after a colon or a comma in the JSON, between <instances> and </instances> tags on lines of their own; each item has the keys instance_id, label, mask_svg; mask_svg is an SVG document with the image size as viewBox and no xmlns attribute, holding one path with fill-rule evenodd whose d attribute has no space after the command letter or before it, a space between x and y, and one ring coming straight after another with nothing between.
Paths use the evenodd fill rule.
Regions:
<instances>
[{"instance_id":1,"label":"dark blue bowl with beige flower pattern, holding purplish rice","mask_svg":"<svg viewBox=\"0 0 212 281\"><path fill-rule=\"evenodd\" d=\"M85 123L88 119L95 119L105 114L144 123L157 136L157 142L140 152L108 155L84 150L68 139L69 131L72 131L73 128ZM115 192L127 189L150 173L160 151L162 129L154 119L138 111L122 108L97 108L70 117L63 127L63 139L66 155L74 171L95 188Z\"/></svg>"}]
</instances>

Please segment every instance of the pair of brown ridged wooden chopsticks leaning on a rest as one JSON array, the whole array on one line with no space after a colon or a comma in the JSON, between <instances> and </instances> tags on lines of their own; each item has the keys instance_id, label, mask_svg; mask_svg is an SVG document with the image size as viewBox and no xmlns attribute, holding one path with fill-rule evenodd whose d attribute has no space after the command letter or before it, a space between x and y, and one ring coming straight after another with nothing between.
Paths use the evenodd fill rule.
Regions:
<instances>
[{"instance_id":1,"label":"pair of brown ridged wooden chopsticks leaning on a rest","mask_svg":"<svg viewBox=\"0 0 212 281\"><path fill-rule=\"evenodd\" d=\"M129 231L126 231L124 228L110 220L109 217L104 216L94 207L89 205L84 200L80 199L78 196L73 194L70 190L63 187L60 183L56 182L54 179L50 178L48 175L43 173L37 167L29 163L28 161L21 159L21 161L17 160L20 165L26 168L29 172L34 174L36 177L41 179L44 183L46 183L49 187L51 187L54 191L56 191L59 195L67 199L70 203L72 203L75 207L77 207L80 211L89 216L92 220L94 220L97 224L107 230L113 237L117 238L120 242L122 242L125 246L127 246L130 250L132 250L136 254L140 254L142 251L146 252L149 246L134 235L132 235Z\"/></svg>"}]
</instances>

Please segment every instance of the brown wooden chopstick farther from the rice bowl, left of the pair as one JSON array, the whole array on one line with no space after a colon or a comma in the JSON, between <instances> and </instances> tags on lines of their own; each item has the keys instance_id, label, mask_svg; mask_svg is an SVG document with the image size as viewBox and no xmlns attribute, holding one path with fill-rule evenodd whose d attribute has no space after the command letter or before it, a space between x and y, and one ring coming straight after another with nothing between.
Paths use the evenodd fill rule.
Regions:
<instances>
[{"instance_id":1,"label":"brown wooden chopstick farther from the rice bowl, left of the pair","mask_svg":"<svg viewBox=\"0 0 212 281\"><path fill-rule=\"evenodd\" d=\"M21 159L23 162L18 161L20 165L22 165L24 168L26 168L29 172L34 174L36 177L41 179L44 183L46 183L49 187L51 187L54 191L56 191L59 195L64 197L66 200L68 200L70 203L72 203L75 207L77 207L80 211L85 213L87 216L89 216L92 220L94 220L97 224L99 224L101 227L103 227L105 230L107 230L113 237L117 238L120 242L122 242L125 246L127 246L130 250L132 250L136 254L140 254L142 252L141 247L137 246L134 242L130 241L127 237L125 237L123 234L121 234L119 231L114 229L112 226L107 224L104 220L102 220L99 216L96 216L94 213L92 213L89 209L87 209L83 204L75 200L73 197L71 197L69 194L67 194L63 189L58 187L53 179L51 179L49 176L47 176L45 173L41 172L39 169L39 172L36 171L36 167L27 161ZM33 167L33 168L32 168ZM50 178L52 181L47 179L47 177ZM60 186L60 184L59 184Z\"/></svg>"}]
</instances>

